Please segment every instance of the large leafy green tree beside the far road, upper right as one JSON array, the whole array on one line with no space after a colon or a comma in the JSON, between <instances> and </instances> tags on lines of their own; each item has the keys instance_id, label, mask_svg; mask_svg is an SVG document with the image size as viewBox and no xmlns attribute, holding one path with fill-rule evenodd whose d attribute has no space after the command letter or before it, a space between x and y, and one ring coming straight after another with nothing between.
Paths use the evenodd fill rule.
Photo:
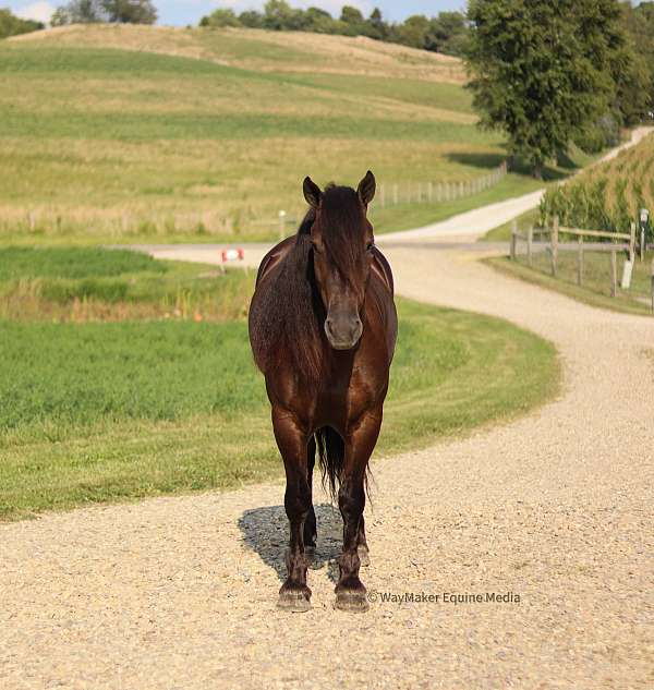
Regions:
<instances>
[{"instance_id":1,"label":"large leafy green tree beside the far road, upper right","mask_svg":"<svg viewBox=\"0 0 654 690\"><path fill-rule=\"evenodd\" d=\"M616 96L616 0L471 0L470 88L534 177ZM604 5L604 7L600 7Z\"/></svg>"}]
</instances>

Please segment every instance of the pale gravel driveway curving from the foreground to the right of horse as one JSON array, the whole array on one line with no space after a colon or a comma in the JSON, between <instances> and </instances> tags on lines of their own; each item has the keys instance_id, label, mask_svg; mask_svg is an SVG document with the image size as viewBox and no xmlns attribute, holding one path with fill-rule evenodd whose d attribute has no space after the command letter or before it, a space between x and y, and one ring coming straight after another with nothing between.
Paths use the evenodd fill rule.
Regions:
<instances>
[{"instance_id":1,"label":"pale gravel driveway curving from the foreground to the right of horse","mask_svg":"<svg viewBox=\"0 0 654 690\"><path fill-rule=\"evenodd\" d=\"M439 601L334 610L318 497L314 608L277 612L280 485L52 515L0 526L0 688L654 686L654 320L471 254L388 255L402 294L510 318L565 370L526 419L374 463L364 582ZM513 602L443 602L486 592Z\"/></svg>"}]
</instances>

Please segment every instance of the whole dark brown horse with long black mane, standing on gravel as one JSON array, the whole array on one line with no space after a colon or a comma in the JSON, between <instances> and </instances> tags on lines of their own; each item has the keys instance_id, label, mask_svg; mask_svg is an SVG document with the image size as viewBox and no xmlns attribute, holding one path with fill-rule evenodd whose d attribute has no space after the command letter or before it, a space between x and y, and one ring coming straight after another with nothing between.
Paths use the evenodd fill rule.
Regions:
<instances>
[{"instance_id":1,"label":"whole dark brown horse with long black mane, standing on gravel","mask_svg":"<svg viewBox=\"0 0 654 690\"><path fill-rule=\"evenodd\" d=\"M374 194L370 171L356 191L322 192L306 178L311 208L298 234L264 257L252 299L250 341L287 475L290 547L279 606L288 610L311 607L305 547L316 543L316 449L343 518L336 606L367 609L359 579L367 561L365 481L397 336L392 274L366 218Z\"/></svg>"}]
</instances>

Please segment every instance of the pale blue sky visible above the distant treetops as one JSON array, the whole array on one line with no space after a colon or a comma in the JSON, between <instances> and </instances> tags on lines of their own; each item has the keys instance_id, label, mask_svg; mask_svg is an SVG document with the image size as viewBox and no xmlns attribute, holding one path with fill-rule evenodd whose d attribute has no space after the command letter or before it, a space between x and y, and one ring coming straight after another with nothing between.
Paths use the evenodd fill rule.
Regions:
<instances>
[{"instance_id":1,"label":"pale blue sky visible above the distant treetops","mask_svg":"<svg viewBox=\"0 0 654 690\"><path fill-rule=\"evenodd\" d=\"M65 0L10 0L9 3L1 2L0 7L9 4L19 16L48 22L55 8L64 3ZM201 16L209 14L216 8L232 8L237 12L261 10L265 0L154 0L154 3L159 11L159 24L185 26L197 24ZM410 14L433 15L441 10L459 10L465 5L465 0L290 0L290 4L298 8L315 5L334 15L340 14L343 4L358 7L364 14L370 14L374 7L378 7L387 20L397 22Z\"/></svg>"}]
</instances>

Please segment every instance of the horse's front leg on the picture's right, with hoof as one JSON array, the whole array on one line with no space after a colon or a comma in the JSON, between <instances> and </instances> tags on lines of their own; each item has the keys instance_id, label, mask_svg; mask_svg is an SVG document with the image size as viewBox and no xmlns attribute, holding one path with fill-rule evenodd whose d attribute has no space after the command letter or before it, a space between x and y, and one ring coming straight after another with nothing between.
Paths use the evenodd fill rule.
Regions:
<instances>
[{"instance_id":1,"label":"horse's front leg on the picture's right, with hoof","mask_svg":"<svg viewBox=\"0 0 654 690\"><path fill-rule=\"evenodd\" d=\"M346 439L346 463L338 493L338 507L343 518L343 550L339 557L340 578L336 585L336 607L343 610L365 612L368 608L365 586L359 578L359 546L365 544L361 542L364 534L365 471L380 426L380 411L366 413Z\"/></svg>"}]
</instances>

